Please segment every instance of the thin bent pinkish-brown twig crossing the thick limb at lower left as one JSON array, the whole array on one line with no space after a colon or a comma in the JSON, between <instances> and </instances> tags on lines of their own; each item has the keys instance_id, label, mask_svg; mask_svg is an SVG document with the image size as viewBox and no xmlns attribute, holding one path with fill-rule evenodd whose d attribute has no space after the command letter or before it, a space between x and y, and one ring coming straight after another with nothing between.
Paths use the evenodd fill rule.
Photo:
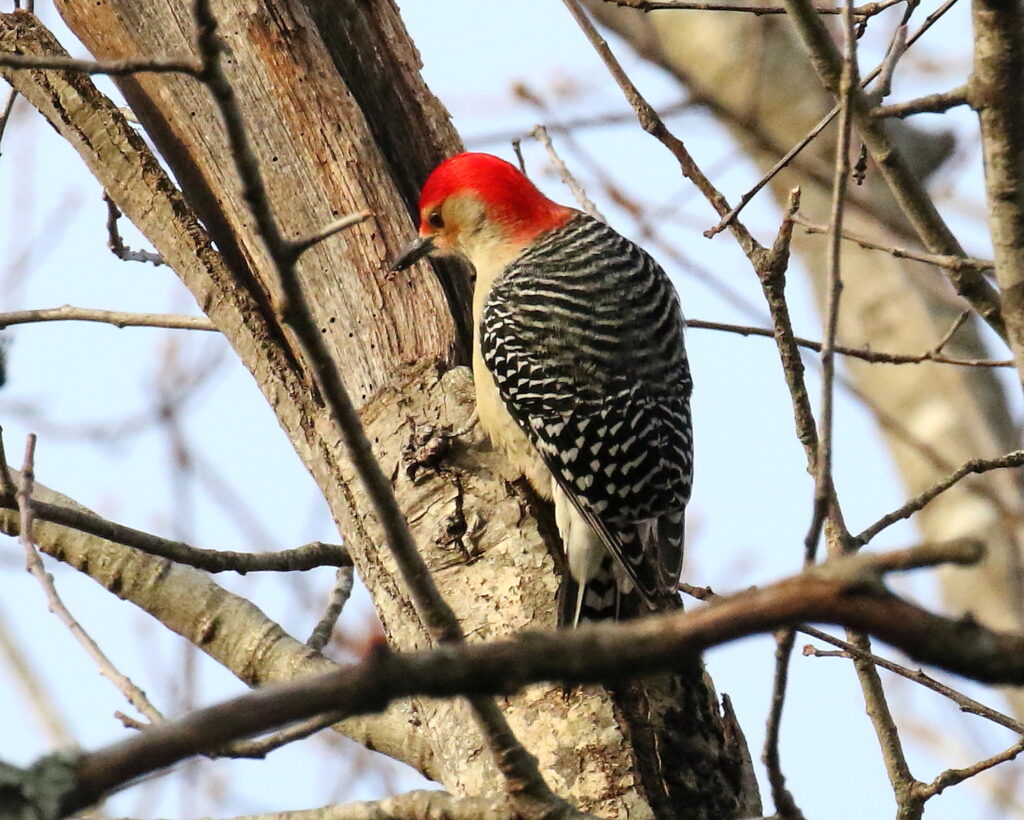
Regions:
<instances>
[{"instance_id":1,"label":"thin bent pinkish-brown twig crossing the thick limb at lower left","mask_svg":"<svg viewBox=\"0 0 1024 820\"><path fill-rule=\"evenodd\" d=\"M164 716L154 706L145 696L145 692L133 684L127 677L118 672L110 658L99 645L89 637L71 611L63 605L60 596L57 595L56 587L53 586L53 578L43 566L43 561L36 551L36 546L32 537L32 524L35 516L35 503L32 501L33 484L35 482L35 454L36 434L30 433L25 446L25 464L22 467L20 488L17 492L17 510L20 517L22 526L18 540L25 549L26 566L29 572L39 581L46 593L46 600L50 611L56 615L68 628L89 656L99 667L99 673L106 680L113 683L141 715L144 715L151 723L160 723Z\"/></svg>"}]
</instances>

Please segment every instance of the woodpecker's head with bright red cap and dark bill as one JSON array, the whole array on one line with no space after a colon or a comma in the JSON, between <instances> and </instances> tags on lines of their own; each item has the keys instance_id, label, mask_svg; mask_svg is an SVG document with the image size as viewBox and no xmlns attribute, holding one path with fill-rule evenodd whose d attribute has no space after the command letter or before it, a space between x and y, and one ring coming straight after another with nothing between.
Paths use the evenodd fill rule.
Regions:
<instances>
[{"instance_id":1,"label":"woodpecker's head with bright red cap and dark bill","mask_svg":"<svg viewBox=\"0 0 1024 820\"><path fill-rule=\"evenodd\" d=\"M427 254L463 256L477 266L488 256L511 261L573 213L541 193L511 163L489 154L459 154L427 177L420 235L392 268L403 270Z\"/></svg>"}]
</instances>

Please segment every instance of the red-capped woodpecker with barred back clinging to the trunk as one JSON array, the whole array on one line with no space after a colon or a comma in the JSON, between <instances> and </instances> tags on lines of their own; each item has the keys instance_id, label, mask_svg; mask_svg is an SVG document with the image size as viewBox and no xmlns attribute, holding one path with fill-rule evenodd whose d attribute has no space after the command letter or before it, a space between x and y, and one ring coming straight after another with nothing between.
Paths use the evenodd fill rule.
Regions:
<instances>
[{"instance_id":1,"label":"red-capped woodpecker with barred back clinging to the trunk","mask_svg":"<svg viewBox=\"0 0 1024 820\"><path fill-rule=\"evenodd\" d=\"M665 271L487 154L453 157L424 184L420 236L394 268L430 253L476 268L480 426L554 501L569 569L559 623L617 617L634 590L651 608L675 600L692 382Z\"/></svg>"}]
</instances>

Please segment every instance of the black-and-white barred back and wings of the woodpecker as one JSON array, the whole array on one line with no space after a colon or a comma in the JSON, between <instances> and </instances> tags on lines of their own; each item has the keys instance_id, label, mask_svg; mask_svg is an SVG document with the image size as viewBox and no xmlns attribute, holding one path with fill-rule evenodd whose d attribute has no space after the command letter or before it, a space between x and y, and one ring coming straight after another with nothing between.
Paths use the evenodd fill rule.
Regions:
<instances>
[{"instance_id":1,"label":"black-and-white barred back and wings of the woodpecker","mask_svg":"<svg viewBox=\"0 0 1024 820\"><path fill-rule=\"evenodd\" d=\"M683 328L660 266L585 214L499 274L480 325L509 413L652 607L676 597L693 472ZM606 561L585 616L616 614L609 584Z\"/></svg>"}]
</instances>

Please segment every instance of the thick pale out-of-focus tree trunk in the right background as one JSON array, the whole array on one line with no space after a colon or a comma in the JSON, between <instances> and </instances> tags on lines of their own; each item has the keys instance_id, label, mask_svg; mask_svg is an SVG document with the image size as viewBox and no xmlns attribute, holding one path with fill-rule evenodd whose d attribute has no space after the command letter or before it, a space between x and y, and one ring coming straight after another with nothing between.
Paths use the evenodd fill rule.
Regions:
<instances>
[{"instance_id":1,"label":"thick pale out-of-focus tree trunk in the right background","mask_svg":"<svg viewBox=\"0 0 1024 820\"><path fill-rule=\"evenodd\" d=\"M694 97L706 100L762 171L803 138L834 104L784 16L696 11L644 14L599 0L588 0L588 7L638 53L668 70ZM752 51L759 59L751 59ZM891 124L890 130L922 176L948 154L949 139L944 135L927 134L900 122ZM771 183L780 204L800 185L801 210L818 223L828 222L835 144L835 129L825 130ZM883 246L921 248L872 167L865 184L853 191L851 205L846 212L847 230L871 236ZM715 241L727 240L722 234ZM793 247L823 303L825 239L802 235L798 227ZM843 279L839 339L851 346L924 352L965 306L938 268L853 243L843 247ZM974 320L957 332L946 349L966 358L987 356ZM1019 446L1019 432L991 370L932 362L890 366L853 358L845 359L844 365L874 414L910 494L970 459ZM838 490L842 498L844 486ZM943 591L952 611L971 612L981 622L1001 630L1024 624L1021 490L1018 473L989 473L953 487L916 516L926 540L971 536L985 544L986 558L977 567L941 570ZM848 522L853 531L858 523L862 522ZM1016 691L1008 694L1020 714L1024 697Z\"/></svg>"}]
</instances>

